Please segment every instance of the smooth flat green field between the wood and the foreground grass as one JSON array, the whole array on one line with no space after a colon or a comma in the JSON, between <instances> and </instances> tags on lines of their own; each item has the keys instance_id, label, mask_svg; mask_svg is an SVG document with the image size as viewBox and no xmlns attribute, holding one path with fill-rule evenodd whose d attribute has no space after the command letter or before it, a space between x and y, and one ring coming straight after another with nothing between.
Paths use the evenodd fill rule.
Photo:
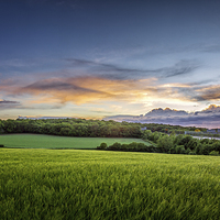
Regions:
<instances>
[{"instance_id":1,"label":"smooth flat green field between the wood and the foreground grass","mask_svg":"<svg viewBox=\"0 0 220 220\"><path fill-rule=\"evenodd\" d=\"M113 138L68 138L43 134L6 134L0 135L0 144L7 147L24 148L96 148L102 142L108 145L114 142L129 144L139 142L150 144L141 139L113 139Z\"/></svg>"}]
</instances>

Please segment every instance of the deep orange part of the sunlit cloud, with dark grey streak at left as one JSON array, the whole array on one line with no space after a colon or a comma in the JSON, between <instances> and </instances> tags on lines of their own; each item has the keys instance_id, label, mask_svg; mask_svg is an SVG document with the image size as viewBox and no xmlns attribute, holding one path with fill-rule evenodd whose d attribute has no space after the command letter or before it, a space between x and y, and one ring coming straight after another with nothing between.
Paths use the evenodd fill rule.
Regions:
<instances>
[{"instance_id":1,"label":"deep orange part of the sunlit cloud, with dark grey streak at left","mask_svg":"<svg viewBox=\"0 0 220 220\"><path fill-rule=\"evenodd\" d=\"M77 105L101 100L132 101L142 99L143 90L155 91L148 80L110 80L97 77L52 78L36 81L14 92L30 94L40 97L33 101L42 102L74 102Z\"/></svg>"}]
</instances>

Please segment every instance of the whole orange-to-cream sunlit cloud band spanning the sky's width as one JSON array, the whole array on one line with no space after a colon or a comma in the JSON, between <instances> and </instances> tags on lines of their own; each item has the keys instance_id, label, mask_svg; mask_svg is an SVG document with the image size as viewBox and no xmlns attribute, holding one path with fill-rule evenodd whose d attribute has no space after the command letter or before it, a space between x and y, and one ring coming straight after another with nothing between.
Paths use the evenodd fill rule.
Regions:
<instances>
[{"instance_id":1,"label":"whole orange-to-cream sunlit cloud band spanning the sky's width","mask_svg":"<svg viewBox=\"0 0 220 220\"><path fill-rule=\"evenodd\" d=\"M10 85L11 82L11 85ZM76 105L100 101L125 101L146 103L152 100L169 102L186 102L197 100L201 82L196 84L163 84L157 78L147 79L108 79L105 77L77 76L54 77L36 80L32 84L23 81L24 86L8 81L0 85L6 97L31 96L32 103L66 103ZM26 84L26 85L25 85ZM208 87L207 87L208 88Z\"/></svg>"}]
</instances>

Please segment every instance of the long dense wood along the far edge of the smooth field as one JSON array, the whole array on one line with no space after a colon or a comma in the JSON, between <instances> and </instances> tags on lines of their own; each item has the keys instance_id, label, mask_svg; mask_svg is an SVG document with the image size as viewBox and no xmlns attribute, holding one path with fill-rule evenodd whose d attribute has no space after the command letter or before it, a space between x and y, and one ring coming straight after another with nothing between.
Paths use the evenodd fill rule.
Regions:
<instances>
[{"instance_id":1,"label":"long dense wood along the far edge of the smooth field","mask_svg":"<svg viewBox=\"0 0 220 220\"><path fill-rule=\"evenodd\" d=\"M0 133L36 133L62 136L141 138L140 124L86 119L0 120Z\"/></svg>"}]
</instances>

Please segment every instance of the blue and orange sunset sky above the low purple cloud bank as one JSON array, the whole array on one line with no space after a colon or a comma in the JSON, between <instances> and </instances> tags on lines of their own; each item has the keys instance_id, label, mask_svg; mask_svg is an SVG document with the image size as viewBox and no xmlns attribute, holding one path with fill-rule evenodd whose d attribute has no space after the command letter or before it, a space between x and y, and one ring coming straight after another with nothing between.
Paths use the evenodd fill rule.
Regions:
<instances>
[{"instance_id":1,"label":"blue and orange sunset sky above the low purple cloud bank","mask_svg":"<svg viewBox=\"0 0 220 220\"><path fill-rule=\"evenodd\" d=\"M0 119L220 105L220 1L0 1Z\"/></svg>"}]
</instances>

